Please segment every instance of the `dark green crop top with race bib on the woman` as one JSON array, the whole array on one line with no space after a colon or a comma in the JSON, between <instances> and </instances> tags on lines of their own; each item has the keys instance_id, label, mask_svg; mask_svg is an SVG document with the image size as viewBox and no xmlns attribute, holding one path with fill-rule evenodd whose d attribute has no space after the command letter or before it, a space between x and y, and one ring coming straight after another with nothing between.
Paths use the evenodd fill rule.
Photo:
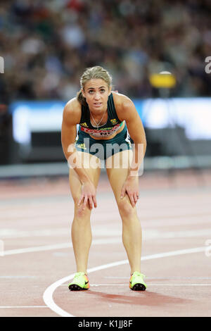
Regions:
<instances>
[{"instance_id":1,"label":"dark green crop top with race bib on the woman","mask_svg":"<svg viewBox=\"0 0 211 331\"><path fill-rule=\"evenodd\" d=\"M94 137L109 137L120 130L124 121L120 121L113 102L113 94L108 96L108 120L106 124L99 127L91 125L89 106L82 105L82 117L79 123L79 132L86 132ZM78 133L79 133L78 132Z\"/></svg>"}]
</instances>

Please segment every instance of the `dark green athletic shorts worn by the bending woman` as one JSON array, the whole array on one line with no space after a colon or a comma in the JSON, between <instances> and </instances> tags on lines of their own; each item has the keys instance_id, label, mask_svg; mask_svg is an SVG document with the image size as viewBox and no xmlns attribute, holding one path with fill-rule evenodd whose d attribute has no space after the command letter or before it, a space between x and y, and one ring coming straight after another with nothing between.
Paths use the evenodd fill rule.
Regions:
<instances>
[{"instance_id":1,"label":"dark green athletic shorts worn by the bending woman","mask_svg":"<svg viewBox=\"0 0 211 331\"><path fill-rule=\"evenodd\" d=\"M83 151L91 155L97 156L101 160L106 160L120 151L132 149L133 140L129 137L127 126L115 135L113 139L94 139L86 132L79 131L75 141L77 151Z\"/></svg>"}]
</instances>

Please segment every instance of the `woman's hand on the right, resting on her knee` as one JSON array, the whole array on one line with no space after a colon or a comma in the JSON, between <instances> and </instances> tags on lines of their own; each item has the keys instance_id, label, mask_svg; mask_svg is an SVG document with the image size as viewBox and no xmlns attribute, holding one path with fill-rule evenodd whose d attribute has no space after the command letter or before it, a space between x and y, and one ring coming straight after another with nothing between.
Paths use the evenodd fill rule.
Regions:
<instances>
[{"instance_id":1,"label":"woman's hand on the right, resting on her knee","mask_svg":"<svg viewBox=\"0 0 211 331\"><path fill-rule=\"evenodd\" d=\"M138 176L130 176L125 180L124 185L121 190L121 199L124 198L124 194L127 193L129 196L129 200L132 206L136 206L136 202L139 199L139 177Z\"/></svg>"}]
</instances>

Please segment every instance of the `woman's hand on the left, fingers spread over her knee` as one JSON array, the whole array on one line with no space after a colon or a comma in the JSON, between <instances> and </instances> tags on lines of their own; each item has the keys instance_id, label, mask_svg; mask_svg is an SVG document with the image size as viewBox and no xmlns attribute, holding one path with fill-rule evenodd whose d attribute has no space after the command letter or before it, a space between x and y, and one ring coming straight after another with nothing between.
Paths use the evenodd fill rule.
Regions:
<instances>
[{"instance_id":1,"label":"woman's hand on the left, fingers spread over her knee","mask_svg":"<svg viewBox=\"0 0 211 331\"><path fill-rule=\"evenodd\" d=\"M91 181L82 184L82 195L78 201L78 206L82 203L82 209L84 210L87 206L87 201L90 209L93 208L93 204L94 208L96 208L96 188Z\"/></svg>"}]
</instances>

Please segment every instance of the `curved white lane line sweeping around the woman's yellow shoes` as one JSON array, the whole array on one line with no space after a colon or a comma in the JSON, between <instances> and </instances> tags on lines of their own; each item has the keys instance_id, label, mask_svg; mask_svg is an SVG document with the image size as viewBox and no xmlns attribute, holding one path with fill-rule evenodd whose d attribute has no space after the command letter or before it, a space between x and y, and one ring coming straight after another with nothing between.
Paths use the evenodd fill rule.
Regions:
<instances>
[{"instance_id":1,"label":"curved white lane line sweeping around the woman's yellow shoes","mask_svg":"<svg viewBox=\"0 0 211 331\"><path fill-rule=\"evenodd\" d=\"M169 256L178 256L178 255L182 255L182 254L198 253L201 251L205 251L205 249L206 249L206 246L196 247L193 249L180 249L178 251L167 251L167 252L163 252L163 253L159 253L159 254L143 256L143 258L141 258L141 261L151 260L153 258L164 258L164 257L169 257ZM115 266L121 266L121 265L127 264L127 263L128 263L128 260L122 260L122 261L117 261L117 262L113 262L113 263L108 263L108 264L104 264L102 266L88 269L87 273L94 273L94 271L112 268ZM75 317L75 316L71 315L67 311L64 311L53 301L53 292L57 289L57 287L59 287L64 282L68 282L68 280L72 280L74 275L75 275L75 273L72 273L72 275L68 275L66 277L61 278L60 280L57 280L56 282L53 282L53 284L51 284L49 287L46 288L46 290L43 294L44 303L47 306L49 306L49 308L52 311L54 311L55 313L57 313L58 315L60 315L62 317Z\"/></svg>"}]
</instances>

